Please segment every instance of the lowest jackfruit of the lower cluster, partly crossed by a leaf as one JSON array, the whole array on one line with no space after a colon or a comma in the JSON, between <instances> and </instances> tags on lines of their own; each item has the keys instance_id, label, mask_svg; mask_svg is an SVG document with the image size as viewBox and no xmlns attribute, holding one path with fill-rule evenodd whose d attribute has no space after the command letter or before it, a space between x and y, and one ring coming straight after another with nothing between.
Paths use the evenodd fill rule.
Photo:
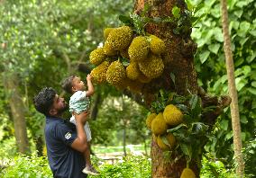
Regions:
<instances>
[{"instance_id":1,"label":"lowest jackfruit of the lower cluster, partly crossed by a leaf","mask_svg":"<svg viewBox=\"0 0 256 178\"><path fill-rule=\"evenodd\" d=\"M166 143L164 143L163 141L163 137L166 137L166 141L168 141L168 145ZM174 137L174 135L172 133L168 133L165 136L158 136L157 139L158 142L158 146L162 149L162 150L171 150L174 148L175 144L176 144L176 139Z\"/></svg>"}]
</instances>

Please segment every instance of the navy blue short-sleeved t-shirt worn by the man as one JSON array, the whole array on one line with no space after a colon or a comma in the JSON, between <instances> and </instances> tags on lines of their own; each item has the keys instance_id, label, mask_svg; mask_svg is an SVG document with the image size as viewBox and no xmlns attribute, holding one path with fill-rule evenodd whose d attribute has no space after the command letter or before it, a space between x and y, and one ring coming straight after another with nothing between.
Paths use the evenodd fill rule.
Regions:
<instances>
[{"instance_id":1,"label":"navy blue short-sleeved t-shirt worn by the man","mask_svg":"<svg viewBox=\"0 0 256 178\"><path fill-rule=\"evenodd\" d=\"M53 177L85 178L82 170L86 165L84 156L71 148L77 138L74 124L60 118L46 118L45 140L47 156Z\"/></svg>"}]
</instances>

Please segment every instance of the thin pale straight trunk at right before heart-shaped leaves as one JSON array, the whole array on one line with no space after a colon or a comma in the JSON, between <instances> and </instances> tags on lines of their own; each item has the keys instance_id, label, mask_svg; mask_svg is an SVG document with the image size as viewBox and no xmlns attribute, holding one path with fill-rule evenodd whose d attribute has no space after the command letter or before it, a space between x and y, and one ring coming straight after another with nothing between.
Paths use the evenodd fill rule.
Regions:
<instances>
[{"instance_id":1,"label":"thin pale straight trunk at right before heart-shaped leaves","mask_svg":"<svg viewBox=\"0 0 256 178\"><path fill-rule=\"evenodd\" d=\"M241 127L240 117L238 108L237 92L235 87L234 79L234 67L233 67L233 54L231 50L231 40L228 32L228 14L226 0L221 0L221 11L222 11L222 23L224 33L224 54L226 61L226 70L228 78L228 89L231 96L231 117L233 127L233 147L235 162L238 164L236 168L236 174L239 177L243 175L243 159L242 159L242 139L241 139Z\"/></svg>"}]
</instances>

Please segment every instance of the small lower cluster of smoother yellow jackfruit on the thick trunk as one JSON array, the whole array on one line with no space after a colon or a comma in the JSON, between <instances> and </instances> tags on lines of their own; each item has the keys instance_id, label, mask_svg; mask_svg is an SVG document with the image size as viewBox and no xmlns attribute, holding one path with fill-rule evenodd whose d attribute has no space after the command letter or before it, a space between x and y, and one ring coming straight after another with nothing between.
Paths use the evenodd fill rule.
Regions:
<instances>
[{"instance_id":1,"label":"small lower cluster of smoother yellow jackfruit on the thick trunk","mask_svg":"<svg viewBox=\"0 0 256 178\"><path fill-rule=\"evenodd\" d=\"M176 139L167 129L177 126L183 121L182 112L173 104L165 107L163 112L151 113L146 119L146 125L151 129L158 146L162 150L173 149L176 145Z\"/></svg>"}]
</instances>

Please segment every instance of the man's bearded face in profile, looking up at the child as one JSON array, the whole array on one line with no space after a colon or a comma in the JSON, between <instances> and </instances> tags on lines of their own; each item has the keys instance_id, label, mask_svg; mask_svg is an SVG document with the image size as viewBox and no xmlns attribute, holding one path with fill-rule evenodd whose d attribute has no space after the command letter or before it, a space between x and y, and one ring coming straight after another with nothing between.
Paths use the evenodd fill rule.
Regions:
<instances>
[{"instance_id":1,"label":"man's bearded face in profile, looking up at the child","mask_svg":"<svg viewBox=\"0 0 256 178\"><path fill-rule=\"evenodd\" d=\"M50 115L59 116L63 111L66 111L69 108L67 102L62 97L59 97L58 94L55 95L52 107L50 109Z\"/></svg>"}]
</instances>

